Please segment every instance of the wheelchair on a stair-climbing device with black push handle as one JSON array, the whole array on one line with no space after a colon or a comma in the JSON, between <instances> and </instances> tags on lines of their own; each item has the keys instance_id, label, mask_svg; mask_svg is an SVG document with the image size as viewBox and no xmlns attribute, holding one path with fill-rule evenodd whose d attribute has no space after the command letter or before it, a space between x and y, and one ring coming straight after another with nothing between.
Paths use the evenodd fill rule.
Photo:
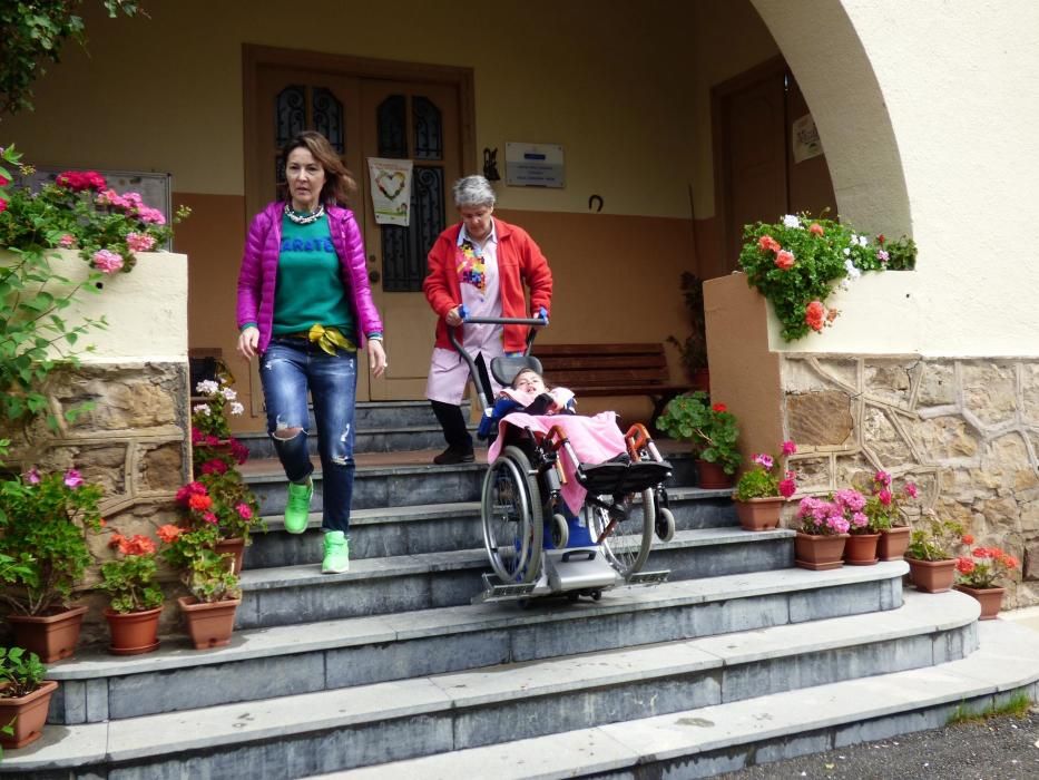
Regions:
<instances>
[{"instance_id":1,"label":"wheelchair on a stair-climbing device with black push handle","mask_svg":"<svg viewBox=\"0 0 1039 780\"><path fill-rule=\"evenodd\" d=\"M530 325L526 353L497 358L490 371L504 386L525 368L541 373L541 363L530 349L546 320L467 318L464 312L462 319L473 324ZM449 338L480 386L472 358L457 341L453 329L449 329ZM479 389L483 413L490 417L494 406L491 388ZM610 587L667 579L667 571L644 571L654 535L669 542L675 534L665 487L672 466L644 426L628 429L626 451L620 456L585 464L563 426L532 430L509 423L508 416L503 420L504 439L498 458L488 467L481 493L483 543L493 575L483 575L484 591L472 598L473 603L520 599L526 604L532 597L563 595L570 601L581 596L598 601ZM490 440L497 430L496 420ZM577 513L570 511L562 498L568 479L587 491Z\"/></svg>"}]
</instances>

